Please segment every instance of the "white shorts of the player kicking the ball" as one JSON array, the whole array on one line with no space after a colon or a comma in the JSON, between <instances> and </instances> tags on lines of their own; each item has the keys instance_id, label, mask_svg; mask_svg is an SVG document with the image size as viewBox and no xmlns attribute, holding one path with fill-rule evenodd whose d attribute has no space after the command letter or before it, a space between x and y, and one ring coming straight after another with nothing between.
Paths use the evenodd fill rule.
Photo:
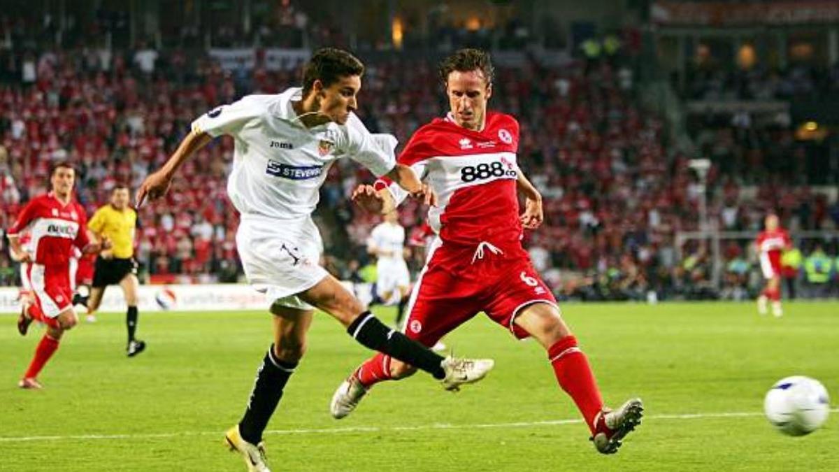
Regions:
<instances>
[{"instance_id":1,"label":"white shorts of the player kicking the ball","mask_svg":"<svg viewBox=\"0 0 839 472\"><path fill-rule=\"evenodd\" d=\"M314 309L296 296L328 275L320 267L323 242L311 218L284 221L242 215L236 249L248 282L268 296L269 307Z\"/></svg>"}]
</instances>

